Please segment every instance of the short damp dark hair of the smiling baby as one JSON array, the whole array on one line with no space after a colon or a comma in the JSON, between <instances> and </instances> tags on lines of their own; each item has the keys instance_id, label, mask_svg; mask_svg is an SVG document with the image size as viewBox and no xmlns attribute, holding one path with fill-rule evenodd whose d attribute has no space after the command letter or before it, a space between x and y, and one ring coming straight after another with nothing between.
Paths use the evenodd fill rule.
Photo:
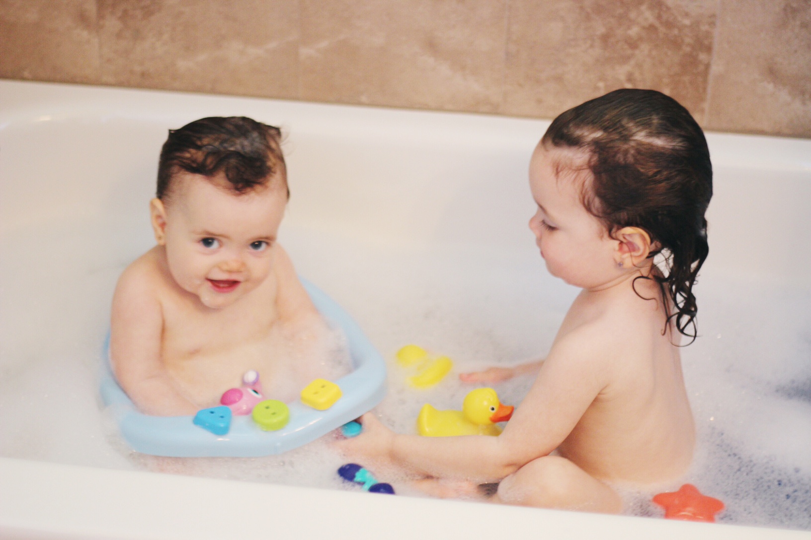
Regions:
<instances>
[{"instance_id":1,"label":"short damp dark hair of the smiling baby","mask_svg":"<svg viewBox=\"0 0 811 540\"><path fill-rule=\"evenodd\" d=\"M223 172L236 193L246 193L281 173L287 189L281 131L247 117L200 118L169 130L157 167L157 198L171 193L181 171L208 176ZM290 196L290 189L287 192Z\"/></svg>"}]
</instances>

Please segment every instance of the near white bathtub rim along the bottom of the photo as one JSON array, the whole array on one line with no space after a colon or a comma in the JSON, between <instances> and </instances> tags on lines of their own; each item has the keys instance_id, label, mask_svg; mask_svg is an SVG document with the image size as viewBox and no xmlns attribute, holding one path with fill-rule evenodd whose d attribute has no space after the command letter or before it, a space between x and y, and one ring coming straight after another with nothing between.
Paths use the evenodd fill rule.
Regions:
<instances>
[{"instance_id":1,"label":"near white bathtub rim along the bottom of the photo","mask_svg":"<svg viewBox=\"0 0 811 540\"><path fill-rule=\"evenodd\" d=\"M811 538L790 529L708 524L645 517L605 516L540 508L488 506L483 503L384 496L362 491L245 483L234 480L98 469L0 457L0 536L2 538L267 538L251 516L272 526L273 538L311 538L324 524L341 524L334 539L363 537L384 517L387 538ZM121 489L121 486L130 489ZM46 489L44 487L47 487ZM147 498L147 494L151 498ZM220 512L241 519L201 520L198 508L217 500ZM139 507L138 512L131 508ZM275 512L268 512L268 506ZM272 510L271 506L271 510ZM319 508L313 519L310 508ZM144 512L148 520L144 520ZM283 519L273 520L277 515ZM347 518L347 517L350 518ZM414 519L415 516L422 519ZM382 521L382 520L381 520ZM139 532L134 532L140 527ZM58 531L58 532L57 532Z\"/></svg>"}]
</instances>

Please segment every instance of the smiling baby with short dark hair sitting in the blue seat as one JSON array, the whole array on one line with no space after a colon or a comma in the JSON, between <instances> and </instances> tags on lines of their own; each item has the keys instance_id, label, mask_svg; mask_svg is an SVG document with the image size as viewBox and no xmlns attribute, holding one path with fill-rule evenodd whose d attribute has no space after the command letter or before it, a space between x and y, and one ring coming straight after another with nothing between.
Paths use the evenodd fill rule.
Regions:
<instances>
[{"instance_id":1,"label":"smiling baby with short dark hair sitting in the blue seat","mask_svg":"<svg viewBox=\"0 0 811 540\"><path fill-rule=\"evenodd\" d=\"M283 401L335 375L314 351L328 329L277 242L290 193L280 136L246 117L169 131L157 245L124 270L112 308L110 360L144 413L218 405L249 370Z\"/></svg>"}]
</instances>

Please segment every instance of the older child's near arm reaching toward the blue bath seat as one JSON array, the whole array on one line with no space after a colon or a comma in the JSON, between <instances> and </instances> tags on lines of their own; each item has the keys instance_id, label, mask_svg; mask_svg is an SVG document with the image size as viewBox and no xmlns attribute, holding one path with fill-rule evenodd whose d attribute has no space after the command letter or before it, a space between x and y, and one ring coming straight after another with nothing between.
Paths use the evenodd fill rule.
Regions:
<instances>
[{"instance_id":1,"label":"older child's near arm reaching toward the blue bath seat","mask_svg":"<svg viewBox=\"0 0 811 540\"><path fill-rule=\"evenodd\" d=\"M493 482L512 474L563 442L605 387L599 347L573 332L556 342L530 393L497 437L423 437L388 432L371 415L371 429L341 441L345 452L388 461L436 478Z\"/></svg>"}]
</instances>

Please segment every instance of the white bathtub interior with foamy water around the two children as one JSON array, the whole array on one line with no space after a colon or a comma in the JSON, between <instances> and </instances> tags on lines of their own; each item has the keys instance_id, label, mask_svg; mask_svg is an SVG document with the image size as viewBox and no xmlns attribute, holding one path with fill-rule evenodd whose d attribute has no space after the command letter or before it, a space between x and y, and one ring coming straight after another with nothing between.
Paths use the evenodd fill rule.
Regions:
<instances>
[{"instance_id":1,"label":"white bathtub interior with foamy water around the two children","mask_svg":"<svg viewBox=\"0 0 811 540\"><path fill-rule=\"evenodd\" d=\"M323 442L258 473L156 464L98 412L111 292L152 245L157 153L197 117L282 126L280 240L387 358L417 342L455 373L542 355L576 294L526 228L526 168L547 122L7 81L0 96L0 457L340 488L324 481L340 461ZM720 521L811 529L811 142L708 139L702 337L682 356L701 440L688 480L727 503ZM390 369L379 409L403 432L423 402L449 408L466 392L446 381L415 393L404 379ZM496 388L517 404L527 382ZM658 515L642 498L633 512Z\"/></svg>"}]
</instances>

